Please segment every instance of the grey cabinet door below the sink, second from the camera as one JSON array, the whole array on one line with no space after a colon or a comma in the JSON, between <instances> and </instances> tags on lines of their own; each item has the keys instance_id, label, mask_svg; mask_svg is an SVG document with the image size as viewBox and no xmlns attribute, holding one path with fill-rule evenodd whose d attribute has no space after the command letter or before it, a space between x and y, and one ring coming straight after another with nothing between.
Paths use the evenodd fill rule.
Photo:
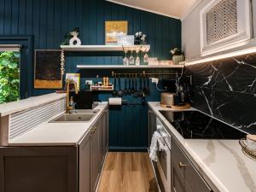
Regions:
<instances>
[{"instance_id":1,"label":"grey cabinet door below the sink, second from the camera","mask_svg":"<svg viewBox=\"0 0 256 192\"><path fill-rule=\"evenodd\" d=\"M91 169L91 190L96 191L97 179L99 176L99 129L98 123L91 128L91 136L90 136L90 169Z\"/></svg>"}]
</instances>

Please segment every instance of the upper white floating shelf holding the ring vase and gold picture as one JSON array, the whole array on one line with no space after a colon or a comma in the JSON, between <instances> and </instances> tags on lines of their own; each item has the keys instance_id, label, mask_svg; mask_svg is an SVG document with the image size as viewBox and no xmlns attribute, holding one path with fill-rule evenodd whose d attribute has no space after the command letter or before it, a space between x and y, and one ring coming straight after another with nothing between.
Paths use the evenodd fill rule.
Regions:
<instances>
[{"instance_id":1,"label":"upper white floating shelf holding the ring vase and gold picture","mask_svg":"<svg viewBox=\"0 0 256 192\"><path fill-rule=\"evenodd\" d=\"M70 46L70 45L61 45L61 49L66 51L124 51L124 49L141 49L148 52L150 49L149 44L138 44L130 46L122 45L79 45L79 46Z\"/></svg>"}]
</instances>

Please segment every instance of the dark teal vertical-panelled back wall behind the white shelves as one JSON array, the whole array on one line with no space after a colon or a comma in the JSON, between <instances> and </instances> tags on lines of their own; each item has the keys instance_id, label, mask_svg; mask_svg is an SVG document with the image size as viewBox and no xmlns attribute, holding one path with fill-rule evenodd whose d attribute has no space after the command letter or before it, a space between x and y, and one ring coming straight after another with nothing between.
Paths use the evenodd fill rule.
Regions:
<instances>
[{"instance_id":1,"label":"dark teal vertical-panelled back wall behind the white shelves","mask_svg":"<svg viewBox=\"0 0 256 192\"><path fill-rule=\"evenodd\" d=\"M0 0L0 35L33 35L34 49L59 49L64 35L75 26L80 27L82 44L104 44L105 20L128 20L129 34L146 33L151 45L150 56L170 59L169 49L181 47L181 21L166 16L103 0ZM110 71L78 70L77 64L121 64L122 56L122 53L68 53L66 72L82 73L84 83L87 77L95 77L97 73L109 75ZM159 101L160 92L153 84L150 86L147 101ZM32 90L32 94L38 96L53 91ZM111 95L100 94L99 98L107 100L108 96ZM140 102L131 96L125 99ZM144 106L112 109L110 144L144 147L147 143L146 110Z\"/></svg>"}]
</instances>

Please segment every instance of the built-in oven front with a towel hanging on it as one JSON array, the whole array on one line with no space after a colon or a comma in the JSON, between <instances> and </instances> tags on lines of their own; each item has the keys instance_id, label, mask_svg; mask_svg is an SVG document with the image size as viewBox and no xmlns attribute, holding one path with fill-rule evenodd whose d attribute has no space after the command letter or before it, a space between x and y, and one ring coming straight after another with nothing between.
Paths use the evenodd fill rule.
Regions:
<instances>
[{"instance_id":1,"label":"built-in oven front with a towel hanging on it","mask_svg":"<svg viewBox=\"0 0 256 192\"><path fill-rule=\"evenodd\" d=\"M161 192L171 192L171 136L159 119L156 119L157 131L160 133L158 139L156 168L159 173L158 180Z\"/></svg>"}]
</instances>

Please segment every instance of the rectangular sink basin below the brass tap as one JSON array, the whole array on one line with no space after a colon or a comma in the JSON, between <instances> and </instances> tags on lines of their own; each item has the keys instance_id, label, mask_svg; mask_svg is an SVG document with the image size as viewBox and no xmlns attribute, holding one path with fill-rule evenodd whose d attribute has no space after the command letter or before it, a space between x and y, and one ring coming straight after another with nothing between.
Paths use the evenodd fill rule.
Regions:
<instances>
[{"instance_id":1,"label":"rectangular sink basin below the brass tap","mask_svg":"<svg viewBox=\"0 0 256 192\"><path fill-rule=\"evenodd\" d=\"M49 121L49 123L80 123L88 122L93 119L99 110L72 110L70 113L64 113Z\"/></svg>"}]
</instances>

